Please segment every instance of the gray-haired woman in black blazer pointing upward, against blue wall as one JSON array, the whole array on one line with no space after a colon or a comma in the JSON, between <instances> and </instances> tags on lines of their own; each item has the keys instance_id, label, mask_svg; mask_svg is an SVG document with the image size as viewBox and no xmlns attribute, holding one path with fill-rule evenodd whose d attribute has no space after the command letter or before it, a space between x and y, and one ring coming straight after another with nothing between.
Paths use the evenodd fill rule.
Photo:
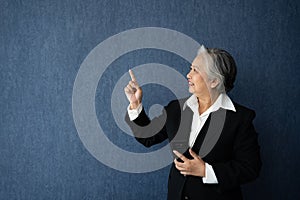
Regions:
<instances>
[{"instance_id":1,"label":"gray-haired woman in black blazer pointing upward, against blue wall","mask_svg":"<svg viewBox=\"0 0 300 200\"><path fill-rule=\"evenodd\" d=\"M177 159L170 170L168 199L242 199L240 185L261 168L255 112L231 101L236 64L221 49L201 46L187 74L186 99L171 101L150 120L132 71L125 87L126 122L146 147L168 139ZM223 113L223 114L222 114Z\"/></svg>"}]
</instances>

